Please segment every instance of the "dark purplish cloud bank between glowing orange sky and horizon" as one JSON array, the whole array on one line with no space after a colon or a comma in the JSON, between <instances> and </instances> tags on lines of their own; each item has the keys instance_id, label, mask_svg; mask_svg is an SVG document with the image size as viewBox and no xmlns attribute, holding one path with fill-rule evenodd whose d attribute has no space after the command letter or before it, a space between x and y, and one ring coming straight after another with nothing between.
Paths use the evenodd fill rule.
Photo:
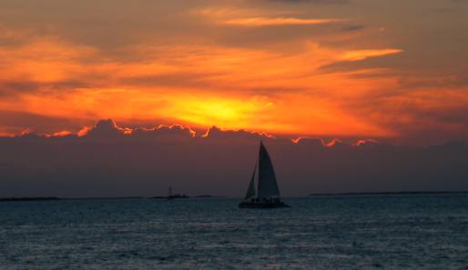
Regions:
<instances>
[{"instance_id":1,"label":"dark purplish cloud bank between glowing orange sky and horizon","mask_svg":"<svg viewBox=\"0 0 468 270\"><path fill-rule=\"evenodd\" d=\"M100 121L86 135L0 138L0 196L241 196L259 140L270 150L283 195L468 190L468 146L296 142L180 125L125 129Z\"/></svg>"}]
</instances>

